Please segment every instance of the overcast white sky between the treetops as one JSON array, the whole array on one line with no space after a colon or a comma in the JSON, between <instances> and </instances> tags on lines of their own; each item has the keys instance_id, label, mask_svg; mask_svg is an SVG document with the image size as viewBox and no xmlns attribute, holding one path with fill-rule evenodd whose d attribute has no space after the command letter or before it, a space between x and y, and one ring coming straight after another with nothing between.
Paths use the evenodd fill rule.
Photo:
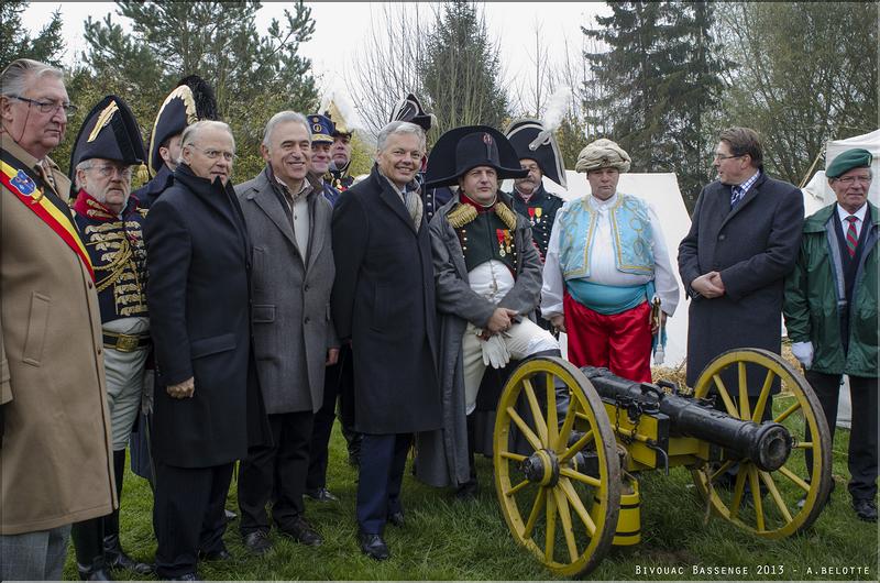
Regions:
<instances>
[{"instance_id":1,"label":"overcast white sky between the treetops","mask_svg":"<svg viewBox=\"0 0 880 583\"><path fill-rule=\"evenodd\" d=\"M381 2L306 2L311 8L316 29L312 40L301 46L301 54L311 58L314 73L323 90L344 88L345 72L356 51L364 46L367 35L381 34L382 23L371 19L378 15ZM290 2L264 2L257 24L267 26L272 18L283 19ZM55 9L62 11L67 53L64 62L72 64L86 50L82 22L87 16L103 19L114 12L113 2L32 2L22 14L31 31L45 25ZM487 2L483 4L492 37L499 43L507 81L518 85L518 77L531 67L535 53L535 28L541 26L552 61L561 61L568 40L569 50L580 46L581 25L592 25L596 13L607 8L598 2ZM422 7L426 16L430 7ZM121 21L118 16L116 20ZM124 21L122 21L124 22ZM371 22L373 23L371 26ZM348 78L355 78L348 70Z\"/></svg>"}]
</instances>

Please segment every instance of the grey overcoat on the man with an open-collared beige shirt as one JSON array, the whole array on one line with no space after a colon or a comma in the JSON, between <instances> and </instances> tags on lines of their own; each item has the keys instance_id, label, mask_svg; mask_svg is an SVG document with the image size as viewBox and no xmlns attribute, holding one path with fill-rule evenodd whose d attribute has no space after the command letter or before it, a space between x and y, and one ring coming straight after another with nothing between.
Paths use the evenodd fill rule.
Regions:
<instances>
[{"instance_id":1,"label":"grey overcoat on the man with an open-collared beige shirt","mask_svg":"<svg viewBox=\"0 0 880 583\"><path fill-rule=\"evenodd\" d=\"M327 349L339 345L330 319L333 210L320 184L309 180L309 244L301 254L267 170L235 187L253 245L254 354L271 415L320 409Z\"/></svg>"}]
</instances>

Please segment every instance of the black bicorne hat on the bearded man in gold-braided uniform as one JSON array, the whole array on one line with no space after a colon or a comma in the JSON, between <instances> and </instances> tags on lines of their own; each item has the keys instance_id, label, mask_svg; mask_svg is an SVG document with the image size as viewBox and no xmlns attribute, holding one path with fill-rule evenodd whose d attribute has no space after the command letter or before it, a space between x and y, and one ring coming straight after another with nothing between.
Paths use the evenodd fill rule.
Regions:
<instances>
[{"instance_id":1,"label":"black bicorne hat on the bearded man in gold-braided uniform","mask_svg":"<svg viewBox=\"0 0 880 583\"><path fill-rule=\"evenodd\" d=\"M141 129L120 97L105 97L82 121L70 152L72 180L77 164L91 158L113 160L132 166L143 164L146 158Z\"/></svg>"}]
</instances>

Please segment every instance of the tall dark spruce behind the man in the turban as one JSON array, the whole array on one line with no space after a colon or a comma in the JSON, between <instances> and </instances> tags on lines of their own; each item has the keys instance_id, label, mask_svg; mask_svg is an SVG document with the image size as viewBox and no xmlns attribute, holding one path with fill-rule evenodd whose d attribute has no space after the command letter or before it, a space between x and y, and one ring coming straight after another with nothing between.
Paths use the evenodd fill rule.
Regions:
<instances>
[{"instance_id":1,"label":"tall dark spruce behind the man in the turban","mask_svg":"<svg viewBox=\"0 0 880 583\"><path fill-rule=\"evenodd\" d=\"M702 2L608 2L609 16L584 34L607 51L584 53L596 87L584 87L609 119L587 119L608 128L632 157L634 172L674 172L692 207L708 179L706 118L717 107L721 74L710 31L713 7ZM598 136L596 136L598 138Z\"/></svg>"}]
</instances>

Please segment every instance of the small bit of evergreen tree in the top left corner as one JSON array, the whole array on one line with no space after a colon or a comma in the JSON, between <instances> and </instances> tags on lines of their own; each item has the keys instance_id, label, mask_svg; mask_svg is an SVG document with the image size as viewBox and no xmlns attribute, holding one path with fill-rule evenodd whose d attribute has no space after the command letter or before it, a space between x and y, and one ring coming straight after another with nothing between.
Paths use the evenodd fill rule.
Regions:
<instances>
[{"instance_id":1,"label":"small bit of evergreen tree in the top left corner","mask_svg":"<svg viewBox=\"0 0 880 583\"><path fill-rule=\"evenodd\" d=\"M56 67L64 56L62 15L58 10L36 36L22 26L21 13L30 2L3 0L0 2L0 70L16 58L33 58Z\"/></svg>"}]
</instances>

